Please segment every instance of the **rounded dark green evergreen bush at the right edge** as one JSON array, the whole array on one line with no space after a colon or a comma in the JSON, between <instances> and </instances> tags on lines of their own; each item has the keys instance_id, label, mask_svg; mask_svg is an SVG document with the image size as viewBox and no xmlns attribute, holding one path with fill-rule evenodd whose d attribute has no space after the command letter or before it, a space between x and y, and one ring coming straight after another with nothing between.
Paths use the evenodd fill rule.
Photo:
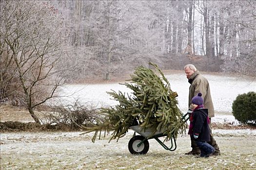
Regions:
<instances>
[{"instance_id":1,"label":"rounded dark green evergreen bush at the right edge","mask_svg":"<svg viewBox=\"0 0 256 170\"><path fill-rule=\"evenodd\" d=\"M256 126L256 92L238 95L232 104L232 109L238 121Z\"/></svg>"}]
</instances>

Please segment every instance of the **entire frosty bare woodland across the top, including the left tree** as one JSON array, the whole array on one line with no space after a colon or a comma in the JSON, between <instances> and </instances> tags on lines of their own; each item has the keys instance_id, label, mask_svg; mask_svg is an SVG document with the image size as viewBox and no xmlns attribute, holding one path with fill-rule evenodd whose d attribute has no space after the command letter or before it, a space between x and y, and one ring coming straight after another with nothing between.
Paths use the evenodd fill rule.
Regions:
<instances>
[{"instance_id":1,"label":"entire frosty bare woodland across the top, including the left tree","mask_svg":"<svg viewBox=\"0 0 256 170\"><path fill-rule=\"evenodd\" d=\"M255 77L255 0L1 0L0 102L34 111L59 87L137 66Z\"/></svg>"}]
</instances>

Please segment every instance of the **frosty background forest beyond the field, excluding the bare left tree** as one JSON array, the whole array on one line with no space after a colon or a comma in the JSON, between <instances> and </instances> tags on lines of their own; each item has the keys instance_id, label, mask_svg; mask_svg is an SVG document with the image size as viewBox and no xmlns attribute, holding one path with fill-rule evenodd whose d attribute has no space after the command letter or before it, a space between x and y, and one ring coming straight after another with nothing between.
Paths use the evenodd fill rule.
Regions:
<instances>
[{"instance_id":1,"label":"frosty background forest beyond the field, excluding the bare left tree","mask_svg":"<svg viewBox=\"0 0 256 170\"><path fill-rule=\"evenodd\" d=\"M51 2L52 3L52 2ZM70 31L63 67L74 81L111 76L148 62L162 69L193 63L202 71L255 75L254 0L55 1Z\"/></svg>"}]
</instances>

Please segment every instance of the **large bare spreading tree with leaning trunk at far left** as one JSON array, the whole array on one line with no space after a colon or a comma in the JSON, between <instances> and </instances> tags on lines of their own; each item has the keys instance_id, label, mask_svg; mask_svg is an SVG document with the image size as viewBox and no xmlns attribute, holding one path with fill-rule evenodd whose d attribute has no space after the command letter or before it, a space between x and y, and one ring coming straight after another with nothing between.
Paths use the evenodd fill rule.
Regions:
<instances>
[{"instance_id":1,"label":"large bare spreading tree with leaning trunk at far left","mask_svg":"<svg viewBox=\"0 0 256 170\"><path fill-rule=\"evenodd\" d=\"M56 97L58 87L65 83L63 70L56 69L67 43L63 18L43 1L1 0L0 6L1 59L14 63L27 109L40 123L35 108Z\"/></svg>"}]
</instances>

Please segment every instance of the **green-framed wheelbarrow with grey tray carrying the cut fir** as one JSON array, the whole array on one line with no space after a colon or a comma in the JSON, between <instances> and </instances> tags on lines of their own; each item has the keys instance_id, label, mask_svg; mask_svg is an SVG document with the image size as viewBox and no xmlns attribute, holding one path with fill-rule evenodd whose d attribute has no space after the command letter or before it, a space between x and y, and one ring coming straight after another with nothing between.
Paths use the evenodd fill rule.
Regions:
<instances>
[{"instance_id":1,"label":"green-framed wheelbarrow with grey tray carrying the cut fir","mask_svg":"<svg viewBox=\"0 0 256 170\"><path fill-rule=\"evenodd\" d=\"M189 119L188 113L186 113L182 120L186 122ZM130 153L132 154L146 154L149 150L149 139L156 139L158 143L166 150L168 151L175 151L177 148L176 144L176 137L172 135L170 137L171 146L168 147L162 142L158 137L166 136L164 134L164 129L157 131L152 135L153 130L152 129L144 129L142 127L138 126L131 126L130 129L135 131L135 135L129 140L128 143L128 149ZM136 135L138 133L139 135Z\"/></svg>"}]
</instances>

